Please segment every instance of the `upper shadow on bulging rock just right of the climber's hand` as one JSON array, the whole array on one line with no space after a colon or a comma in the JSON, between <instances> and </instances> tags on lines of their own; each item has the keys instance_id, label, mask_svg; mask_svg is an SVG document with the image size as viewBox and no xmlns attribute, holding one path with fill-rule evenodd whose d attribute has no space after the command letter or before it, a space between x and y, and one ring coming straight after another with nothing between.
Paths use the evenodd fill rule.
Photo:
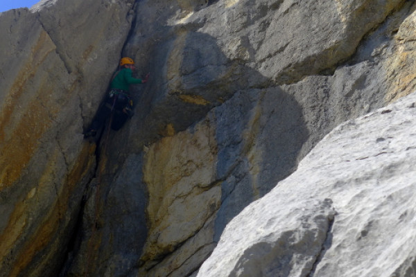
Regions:
<instances>
[{"instance_id":1,"label":"upper shadow on bulging rock just right of the climber's hand","mask_svg":"<svg viewBox=\"0 0 416 277\"><path fill-rule=\"evenodd\" d=\"M133 118L136 128L131 132L146 143L168 135L167 125L175 132L187 129L235 91L266 81L241 61L228 60L214 37L191 27L171 32L166 35L170 39L153 46L153 78L137 101L137 117Z\"/></svg>"}]
</instances>

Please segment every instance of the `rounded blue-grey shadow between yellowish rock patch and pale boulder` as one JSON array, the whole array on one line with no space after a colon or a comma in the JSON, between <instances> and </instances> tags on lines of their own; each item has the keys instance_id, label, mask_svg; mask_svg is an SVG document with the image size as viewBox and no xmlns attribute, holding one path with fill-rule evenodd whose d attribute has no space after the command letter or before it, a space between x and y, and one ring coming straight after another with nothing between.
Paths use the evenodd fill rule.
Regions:
<instances>
[{"instance_id":1,"label":"rounded blue-grey shadow between yellowish rock patch and pale boulder","mask_svg":"<svg viewBox=\"0 0 416 277\"><path fill-rule=\"evenodd\" d=\"M302 107L279 87L240 91L215 114L217 174L224 180L214 238L218 242L235 215L295 170L309 132Z\"/></svg>"}]
</instances>

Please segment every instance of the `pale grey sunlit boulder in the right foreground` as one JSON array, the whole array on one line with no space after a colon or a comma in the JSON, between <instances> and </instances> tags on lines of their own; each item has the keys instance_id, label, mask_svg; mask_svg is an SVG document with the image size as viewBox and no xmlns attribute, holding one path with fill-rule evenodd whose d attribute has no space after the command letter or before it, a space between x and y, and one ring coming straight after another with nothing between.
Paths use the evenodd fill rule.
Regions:
<instances>
[{"instance_id":1,"label":"pale grey sunlit boulder in the right foreground","mask_svg":"<svg viewBox=\"0 0 416 277\"><path fill-rule=\"evenodd\" d=\"M413 93L336 127L227 225L198 276L414 276L415 107Z\"/></svg>"}]
</instances>

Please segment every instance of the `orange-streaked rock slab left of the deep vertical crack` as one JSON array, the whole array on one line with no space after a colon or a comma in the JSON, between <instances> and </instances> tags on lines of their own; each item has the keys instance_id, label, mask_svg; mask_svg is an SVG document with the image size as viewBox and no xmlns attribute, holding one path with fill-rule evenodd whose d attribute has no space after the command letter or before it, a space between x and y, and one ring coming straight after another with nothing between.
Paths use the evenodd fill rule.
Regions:
<instances>
[{"instance_id":1,"label":"orange-streaked rock slab left of the deep vertical crack","mask_svg":"<svg viewBox=\"0 0 416 277\"><path fill-rule=\"evenodd\" d=\"M54 2L0 14L0 276L58 275L95 170L83 118L131 23L132 1Z\"/></svg>"}]
</instances>

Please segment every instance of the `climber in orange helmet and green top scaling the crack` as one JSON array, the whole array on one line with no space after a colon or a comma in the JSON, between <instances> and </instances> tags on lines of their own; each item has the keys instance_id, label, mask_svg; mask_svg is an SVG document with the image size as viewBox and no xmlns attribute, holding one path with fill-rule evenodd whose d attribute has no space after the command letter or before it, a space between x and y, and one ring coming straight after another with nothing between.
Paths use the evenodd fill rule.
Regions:
<instances>
[{"instance_id":1,"label":"climber in orange helmet and green top scaling the crack","mask_svg":"<svg viewBox=\"0 0 416 277\"><path fill-rule=\"evenodd\" d=\"M88 131L85 132L85 138L95 136L98 129L104 125L105 120L110 116L113 110L118 112L118 114L121 114L122 118L127 119L132 117L133 101L129 94L130 84L144 84L149 78L149 74L147 74L144 79L133 78L132 73L135 69L135 62L132 58L121 58L119 70L114 73L114 77L110 83L110 91L105 98L105 101L99 107ZM121 121L123 121L123 119L121 119Z\"/></svg>"}]
</instances>

